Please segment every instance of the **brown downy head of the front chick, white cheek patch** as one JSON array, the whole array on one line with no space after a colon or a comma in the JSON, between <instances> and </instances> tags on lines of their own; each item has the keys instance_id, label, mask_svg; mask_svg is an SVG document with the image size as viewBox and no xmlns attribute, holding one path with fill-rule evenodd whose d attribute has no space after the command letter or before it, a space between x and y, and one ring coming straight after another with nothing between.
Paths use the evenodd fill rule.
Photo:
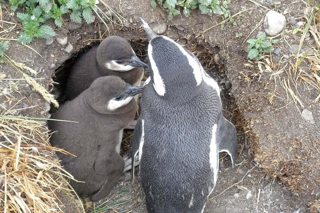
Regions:
<instances>
[{"instance_id":1,"label":"brown downy head of the front chick, white cheek patch","mask_svg":"<svg viewBox=\"0 0 320 213\"><path fill-rule=\"evenodd\" d=\"M100 114L112 114L134 106L133 97L142 87L133 87L117 76L103 76L94 80L86 93L89 106ZM132 100L133 99L133 100Z\"/></svg>"}]
</instances>

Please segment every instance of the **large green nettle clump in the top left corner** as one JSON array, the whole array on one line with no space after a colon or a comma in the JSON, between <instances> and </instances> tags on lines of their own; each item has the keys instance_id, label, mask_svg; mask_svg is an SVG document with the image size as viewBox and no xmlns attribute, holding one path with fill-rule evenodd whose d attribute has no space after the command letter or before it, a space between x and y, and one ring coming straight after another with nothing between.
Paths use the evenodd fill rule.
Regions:
<instances>
[{"instance_id":1,"label":"large green nettle clump in the top left corner","mask_svg":"<svg viewBox=\"0 0 320 213\"><path fill-rule=\"evenodd\" d=\"M64 24L62 15L69 13L71 21L80 23L83 18L90 24L92 10L97 9L95 0L9 0L9 2L13 12L18 7L26 8L27 13L17 13L24 30L19 37L19 42L23 44L29 44L35 38L55 36L53 29L43 24L48 19L52 18L55 25L61 27Z\"/></svg>"}]
</instances>

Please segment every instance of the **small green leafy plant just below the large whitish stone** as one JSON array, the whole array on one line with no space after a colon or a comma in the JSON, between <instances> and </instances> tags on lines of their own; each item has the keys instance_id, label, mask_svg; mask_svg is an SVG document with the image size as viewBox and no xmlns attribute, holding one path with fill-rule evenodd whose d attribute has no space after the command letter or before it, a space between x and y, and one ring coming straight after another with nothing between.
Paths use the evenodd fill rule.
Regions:
<instances>
[{"instance_id":1,"label":"small green leafy plant just below the large whitish stone","mask_svg":"<svg viewBox=\"0 0 320 213\"><path fill-rule=\"evenodd\" d=\"M259 35L257 39L249 39L248 46L248 58L255 61L259 61L259 58L264 54L269 54L272 50L272 44L275 44L279 40L266 39L266 33Z\"/></svg>"}]
</instances>

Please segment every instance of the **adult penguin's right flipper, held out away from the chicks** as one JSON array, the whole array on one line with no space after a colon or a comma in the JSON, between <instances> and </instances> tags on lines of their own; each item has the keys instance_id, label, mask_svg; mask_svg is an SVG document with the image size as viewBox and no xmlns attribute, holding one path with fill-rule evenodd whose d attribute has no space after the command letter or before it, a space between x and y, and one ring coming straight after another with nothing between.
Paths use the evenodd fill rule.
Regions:
<instances>
[{"instance_id":1,"label":"adult penguin's right flipper, held out away from the chicks","mask_svg":"<svg viewBox=\"0 0 320 213\"><path fill-rule=\"evenodd\" d=\"M234 167L238 158L236 127L223 116L221 116L218 123L217 141L219 142L219 152L227 152L231 157L232 166Z\"/></svg>"}]
</instances>

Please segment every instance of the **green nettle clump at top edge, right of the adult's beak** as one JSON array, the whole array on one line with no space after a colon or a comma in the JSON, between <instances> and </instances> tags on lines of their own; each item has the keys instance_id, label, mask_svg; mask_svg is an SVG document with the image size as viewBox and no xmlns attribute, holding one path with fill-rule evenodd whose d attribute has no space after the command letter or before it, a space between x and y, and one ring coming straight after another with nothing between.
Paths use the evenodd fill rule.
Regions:
<instances>
[{"instance_id":1,"label":"green nettle clump at top edge, right of the adult's beak","mask_svg":"<svg viewBox=\"0 0 320 213\"><path fill-rule=\"evenodd\" d=\"M191 14L191 10L198 8L202 14L211 16L212 14L221 14L223 19L230 17L230 11L228 11L228 3L231 0L224 1L221 8L218 5L218 0L160 0L159 4L163 4L163 7L169 10L169 19L173 16L180 14L179 7L183 9L183 14L188 17ZM151 0L152 7L156 8L156 0ZM176 7L178 9L176 9ZM234 21L234 20L233 20Z\"/></svg>"}]
</instances>

